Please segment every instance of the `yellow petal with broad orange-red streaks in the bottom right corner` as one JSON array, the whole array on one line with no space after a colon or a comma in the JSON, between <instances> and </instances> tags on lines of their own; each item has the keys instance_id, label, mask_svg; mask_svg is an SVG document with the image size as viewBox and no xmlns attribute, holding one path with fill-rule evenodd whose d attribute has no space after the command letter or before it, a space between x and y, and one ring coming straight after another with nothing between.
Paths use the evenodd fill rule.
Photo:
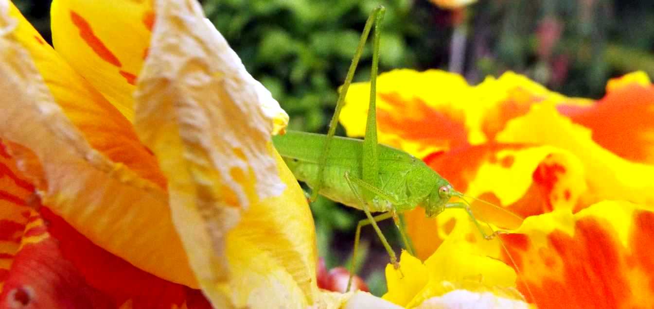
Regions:
<instances>
[{"instance_id":1,"label":"yellow petal with broad orange-red streaks in the bottom right corner","mask_svg":"<svg viewBox=\"0 0 654 309\"><path fill-rule=\"evenodd\" d=\"M653 233L651 207L605 201L527 218L501 237L520 291L541 308L651 308Z\"/></svg>"}]
</instances>

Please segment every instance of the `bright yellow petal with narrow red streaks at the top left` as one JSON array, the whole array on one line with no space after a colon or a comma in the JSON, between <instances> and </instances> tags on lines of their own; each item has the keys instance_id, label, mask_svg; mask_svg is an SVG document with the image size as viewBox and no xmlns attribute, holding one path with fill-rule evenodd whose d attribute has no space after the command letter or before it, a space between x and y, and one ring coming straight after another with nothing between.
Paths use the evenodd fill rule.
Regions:
<instances>
[{"instance_id":1,"label":"bright yellow petal with narrow red streaks at the top left","mask_svg":"<svg viewBox=\"0 0 654 309\"><path fill-rule=\"evenodd\" d=\"M152 0L54 0L50 19L57 52L131 120L154 24Z\"/></svg>"}]
</instances>

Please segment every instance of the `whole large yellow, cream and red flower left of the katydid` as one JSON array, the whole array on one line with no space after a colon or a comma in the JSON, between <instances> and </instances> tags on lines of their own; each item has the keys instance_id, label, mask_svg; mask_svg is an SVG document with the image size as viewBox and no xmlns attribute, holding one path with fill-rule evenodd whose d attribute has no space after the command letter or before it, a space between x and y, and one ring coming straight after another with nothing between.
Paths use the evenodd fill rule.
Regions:
<instances>
[{"instance_id":1,"label":"whole large yellow, cream and red flower left of the katydid","mask_svg":"<svg viewBox=\"0 0 654 309\"><path fill-rule=\"evenodd\" d=\"M270 143L288 121L196 1L0 1L0 303L338 307ZM381 300L379 300L381 301Z\"/></svg>"}]
</instances>

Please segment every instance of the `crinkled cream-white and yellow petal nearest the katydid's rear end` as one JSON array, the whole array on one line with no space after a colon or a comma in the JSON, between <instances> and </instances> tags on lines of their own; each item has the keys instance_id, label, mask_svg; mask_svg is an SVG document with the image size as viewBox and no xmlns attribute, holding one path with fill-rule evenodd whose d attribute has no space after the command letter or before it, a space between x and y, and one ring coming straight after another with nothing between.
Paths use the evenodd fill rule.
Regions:
<instances>
[{"instance_id":1,"label":"crinkled cream-white and yellow petal nearest the katydid's rear end","mask_svg":"<svg viewBox=\"0 0 654 309\"><path fill-rule=\"evenodd\" d=\"M157 1L156 14L135 127L168 175L173 223L203 292L218 308L317 301L313 220L271 148L261 105L272 99L198 3Z\"/></svg>"}]
</instances>

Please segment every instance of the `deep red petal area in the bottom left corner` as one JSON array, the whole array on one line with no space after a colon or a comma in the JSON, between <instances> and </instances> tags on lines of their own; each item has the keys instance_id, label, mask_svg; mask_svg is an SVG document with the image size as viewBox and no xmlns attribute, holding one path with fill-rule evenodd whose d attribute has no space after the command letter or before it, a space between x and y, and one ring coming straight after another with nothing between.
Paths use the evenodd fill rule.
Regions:
<instances>
[{"instance_id":1,"label":"deep red petal area in the bottom left corner","mask_svg":"<svg viewBox=\"0 0 654 309\"><path fill-rule=\"evenodd\" d=\"M6 272L0 304L7 308L117 308L129 303L130 308L145 309L185 302L188 308L210 308L198 291L133 267L95 246L47 208L41 213L44 220L31 211L20 250Z\"/></svg>"}]
</instances>

